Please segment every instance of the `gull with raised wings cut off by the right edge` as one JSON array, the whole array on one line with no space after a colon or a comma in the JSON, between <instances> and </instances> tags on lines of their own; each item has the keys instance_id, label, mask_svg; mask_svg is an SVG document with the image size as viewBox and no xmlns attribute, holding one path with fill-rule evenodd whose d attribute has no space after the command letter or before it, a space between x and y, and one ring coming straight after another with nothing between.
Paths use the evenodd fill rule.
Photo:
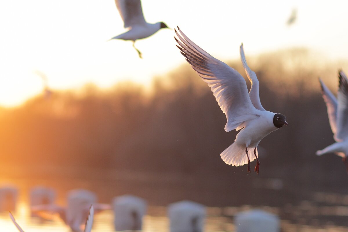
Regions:
<instances>
[{"instance_id":1,"label":"gull with raised wings cut off by the right edge","mask_svg":"<svg viewBox=\"0 0 348 232\"><path fill-rule=\"evenodd\" d=\"M317 155L335 153L342 157L348 171L348 79L343 71L338 72L339 86L337 99L319 79L329 122L336 143L316 152Z\"/></svg>"}]
</instances>

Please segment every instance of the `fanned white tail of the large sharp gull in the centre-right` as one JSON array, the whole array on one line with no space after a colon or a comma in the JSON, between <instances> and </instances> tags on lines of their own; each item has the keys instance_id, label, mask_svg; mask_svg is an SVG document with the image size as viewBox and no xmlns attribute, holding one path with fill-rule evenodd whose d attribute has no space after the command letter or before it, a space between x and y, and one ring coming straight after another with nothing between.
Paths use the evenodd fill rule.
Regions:
<instances>
[{"instance_id":1,"label":"fanned white tail of the large sharp gull in the centre-right","mask_svg":"<svg viewBox=\"0 0 348 232\"><path fill-rule=\"evenodd\" d=\"M259 157L258 149L256 149L256 155L257 157ZM245 147L238 146L237 143L232 143L229 147L226 148L226 150L221 152L220 156L221 159L228 165L240 166L248 163L248 157L245 153ZM255 160L254 147L248 148L248 156L250 162Z\"/></svg>"}]
</instances>

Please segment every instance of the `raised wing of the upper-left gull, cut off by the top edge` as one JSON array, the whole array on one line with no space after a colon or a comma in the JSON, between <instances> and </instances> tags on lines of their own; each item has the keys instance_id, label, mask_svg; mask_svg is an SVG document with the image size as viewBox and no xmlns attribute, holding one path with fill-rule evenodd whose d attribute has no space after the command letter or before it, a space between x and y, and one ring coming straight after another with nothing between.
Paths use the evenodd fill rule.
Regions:
<instances>
[{"instance_id":1,"label":"raised wing of the upper-left gull, cut off by the top edge","mask_svg":"<svg viewBox=\"0 0 348 232\"><path fill-rule=\"evenodd\" d=\"M115 0L124 27L146 25L140 0Z\"/></svg>"}]
</instances>

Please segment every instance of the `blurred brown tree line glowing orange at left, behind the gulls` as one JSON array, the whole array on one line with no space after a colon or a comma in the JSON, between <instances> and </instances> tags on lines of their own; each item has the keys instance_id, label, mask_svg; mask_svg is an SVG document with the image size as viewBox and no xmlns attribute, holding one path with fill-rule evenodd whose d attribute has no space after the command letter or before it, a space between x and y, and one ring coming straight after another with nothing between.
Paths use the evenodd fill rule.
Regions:
<instances>
[{"instance_id":1,"label":"blurred brown tree line glowing orange at left, behind the gulls","mask_svg":"<svg viewBox=\"0 0 348 232\"><path fill-rule=\"evenodd\" d=\"M315 155L334 142L318 77L336 95L338 69L348 73L347 63L300 48L247 59L260 80L263 107L289 123L261 141L259 176L221 160L237 133L224 131L225 115L188 64L154 78L151 91L130 82L110 89L86 85L1 109L1 163L169 173L198 195L216 189L230 203L237 201L231 194L252 203L255 193L248 188L267 178L281 179L292 200L296 192L347 193L340 158ZM246 77L239 60L228 64Z\"/></svg>"}]
</instances>

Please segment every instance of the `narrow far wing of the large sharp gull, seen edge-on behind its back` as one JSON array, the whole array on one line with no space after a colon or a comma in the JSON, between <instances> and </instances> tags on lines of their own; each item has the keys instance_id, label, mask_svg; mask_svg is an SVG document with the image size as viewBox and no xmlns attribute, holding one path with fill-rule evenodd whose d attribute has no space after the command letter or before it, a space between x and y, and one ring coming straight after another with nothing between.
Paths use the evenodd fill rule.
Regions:
<instances>
[{"instance_id":1,"label":"narrow far wing of the large sharp gull, seen edge-on behind its back","mask_svg":"<svg viewBox=\"0 0 348 232\"><path fill-rule=\"evenodd\" d=\"M243 43L240 45L240 59L242 60L242 64L245 70L245 73L250 80L251 83L251 88L249 91L249 97L253 105L255 106L256 109L261 110L261 111L266 111L260 101L260 95L259 95L259 80L256 77L256 74L254 71L252 71L248 64L246 63L245 55L244 55L244 49L243 49Z\"/></svg>"}]
</instances>

